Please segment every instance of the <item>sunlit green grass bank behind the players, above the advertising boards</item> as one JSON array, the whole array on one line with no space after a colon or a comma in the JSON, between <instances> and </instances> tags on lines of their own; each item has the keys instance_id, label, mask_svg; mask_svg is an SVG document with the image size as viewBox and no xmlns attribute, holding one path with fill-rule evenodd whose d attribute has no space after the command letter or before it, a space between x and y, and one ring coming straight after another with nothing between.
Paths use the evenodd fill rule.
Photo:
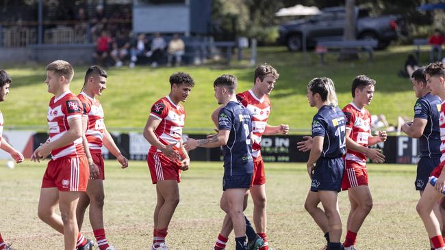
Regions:
<instances>
[{"instance_id":1,"label":"sunlit green grass bank behind the players, above the advertising boards","mask_svg":"<svg viewBox=\"0 0 445 250\"><path fill-rule=\"evenodd\" d=\"M314 77L330 77L335 82L344 107L351 101L351 81L357 74L367 74L377 80L376 94L369 109L372 113L384 113L390 123L396 123L398 115L413 115L416 100L408 79L401 79L396 72L403 68L407 53L412 46L398 46L374 53L374 64L369 65L366 55L359 61L339 62L336 55L329 55L327 64L320 66L318 57L308 52L307 64L302 53L288 53L284 47L262 47L258 51L257 64L267 62L275 66L280 78L271 94L272 113L270 124L288 123L294 130L309 128L316 112L306 99L307 83ZM426 59L427 55L423 55ZM425 61L425 60L424 60ZM186 130L212 128L209 115L217 107L213 81L220 74L235 74L239 79L238 91L249 89L253 84L253 70L245 62L233 62L226 66L201 66L181 68L149 68L139 66L110 68L107 90L101 97L106 123L111 130L132 128L141 130L155 100L168 94L168 77L179 70L190 73L196 81L188 101ZM8 126L41 126L46 129L47 104L51 95L44 85L44 66L11 66L5 68L12 76L11 94L0 109ZM83 84L86 66L75 67L71 89L77 93ZM113 129L114 128L114 129Z\"/></svg>"}]
</instances>

